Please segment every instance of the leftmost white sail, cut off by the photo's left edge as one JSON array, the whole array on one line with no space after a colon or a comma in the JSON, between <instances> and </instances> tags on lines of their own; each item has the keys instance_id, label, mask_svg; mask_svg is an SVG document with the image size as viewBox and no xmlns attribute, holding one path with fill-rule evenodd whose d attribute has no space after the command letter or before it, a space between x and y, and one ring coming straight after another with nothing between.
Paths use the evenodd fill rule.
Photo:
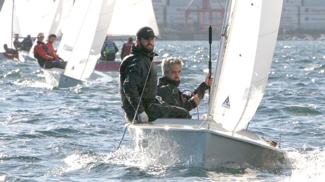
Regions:
<instances>
[{"instance_id":1,"label":"leftmost white sail, cut off by the photo's left edge","mask_svg":"<svg viewBox=\"0 0 325 182\"><path fill-rule=\"evenodd\" d=\"M3 2L1 11L0 11L0 24L1 27L1 36L0 36L0 52L5 52L3 45L7 44L8 48L12 48L12 9L13 1L5 0Z\"/></svg>"}]
</instances>

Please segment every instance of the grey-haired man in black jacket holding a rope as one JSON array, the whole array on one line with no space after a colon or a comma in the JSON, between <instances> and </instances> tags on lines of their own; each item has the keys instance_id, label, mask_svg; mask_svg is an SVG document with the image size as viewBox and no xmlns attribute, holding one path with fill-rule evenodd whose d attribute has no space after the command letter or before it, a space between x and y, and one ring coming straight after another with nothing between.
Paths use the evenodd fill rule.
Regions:
<instances>
[{"instance_id":1,"label":"grey-haired man in black jacket holding a rope","mask_svg":"<svg viewBox=\"0 0 325 182\"><path fill-rule=\"evenodd\" d=\"M180 84L181 69L184 63L182 60L170 57L162 60L162 74L163 77L159 78L157 95L162 98L162 101L179 107L183 107L188 111L195 108L200 104L205 90L212 85L213 78L209 79L209 73L205 80L197 86L193 94L183 94L178 86ZM183 100L182 100L183 97Z\"/></svg>"}]
</instances>

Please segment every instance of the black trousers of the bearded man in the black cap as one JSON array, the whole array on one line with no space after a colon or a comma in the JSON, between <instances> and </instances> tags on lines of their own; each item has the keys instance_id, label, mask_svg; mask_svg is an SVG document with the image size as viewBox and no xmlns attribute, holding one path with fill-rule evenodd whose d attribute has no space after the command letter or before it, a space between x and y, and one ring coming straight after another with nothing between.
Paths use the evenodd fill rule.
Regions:
<instances>
[{"instance_id":1,"label":"black trousers of the bearded man in the black cap","mask_svg":"<svg viewBox=\"0 0 325 182\"><path fill-rule=\"evenodd\" d=\"M126 99L125 96L122 96L122 100L123 97ZM177 107L177 106L172 106L172 105L167 105L167 104L160 104L157 102L144 102L143 106L145 108L145 112L147 113L148 117L149 117L149 121L154 121L158 118L186 118L186 119L190 119L192 118L192 116L189 114L188 110L182 108L182 107ZM134 118L134 108L132 107L132 105L130 105L128 102L127 103L123 103L121 105L122 109L123 109L123 114L124 114L124 118L129 121L132 122L133 118ZM140 113L137 113L140 114ZM136 117L137 120L137 117Z\"/></svg>"}]
</instances>

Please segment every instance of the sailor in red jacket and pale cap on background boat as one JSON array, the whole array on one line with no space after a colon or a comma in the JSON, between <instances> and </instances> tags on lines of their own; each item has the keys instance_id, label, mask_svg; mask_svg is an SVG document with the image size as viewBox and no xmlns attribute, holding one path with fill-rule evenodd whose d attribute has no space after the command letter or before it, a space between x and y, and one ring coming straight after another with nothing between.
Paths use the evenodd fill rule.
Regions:
<instances>
[{"instance_id":1,"label":"sailor in red jacket and pale cap on background boat","mask_svg":"<svg viewBox=\"0 0 325 182\"><path fill-rule=\"evenodd\" d=\"M34 58L37 60L41 68L65 68L65 62L50 56L50 50L43 42L44 34L37 35L37 45L34 47Z\"/></svg>"}]
</instances>

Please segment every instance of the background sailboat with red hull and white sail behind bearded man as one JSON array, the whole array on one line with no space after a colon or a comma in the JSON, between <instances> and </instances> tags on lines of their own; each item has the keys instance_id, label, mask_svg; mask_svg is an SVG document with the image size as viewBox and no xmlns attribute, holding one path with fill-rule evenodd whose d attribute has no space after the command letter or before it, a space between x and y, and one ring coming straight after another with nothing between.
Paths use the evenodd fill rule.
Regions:
<instances>
[{"instance_id":1,"label":"background sailboat with red hull and white sail behind bearded man","mask_svg":"<svg viewBox=\"0 0 325 182\"><path fill-rule=\"evenodd\" d=\"M156 36L160 35L151 0L116 1L107 35L126 40L128 37L136 37L136 32L143 26L151 27ZM121 61L98 59L95 70L119 71ZM159 64L161 61L154 60L154 63Z\"/></svg>"}]
</instances>

